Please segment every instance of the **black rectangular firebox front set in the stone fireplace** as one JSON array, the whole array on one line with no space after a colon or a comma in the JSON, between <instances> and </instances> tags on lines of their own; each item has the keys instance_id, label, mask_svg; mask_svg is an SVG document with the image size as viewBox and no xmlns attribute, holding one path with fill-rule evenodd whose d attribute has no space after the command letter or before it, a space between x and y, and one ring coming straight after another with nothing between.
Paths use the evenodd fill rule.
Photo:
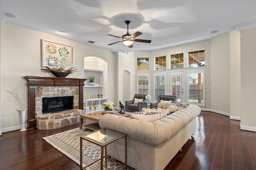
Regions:
<instances>
[{"instance_id":1,"label":"black rectangular firebox front set in the stone fireplace","mask_svg":"<svg viewBox=\"0 0 256 170\"><path fill-rule=\"evenodd\" d=\"M42 113L56 113L73 109L74 96L43 98Z\"/></svg>"}]
</instances>

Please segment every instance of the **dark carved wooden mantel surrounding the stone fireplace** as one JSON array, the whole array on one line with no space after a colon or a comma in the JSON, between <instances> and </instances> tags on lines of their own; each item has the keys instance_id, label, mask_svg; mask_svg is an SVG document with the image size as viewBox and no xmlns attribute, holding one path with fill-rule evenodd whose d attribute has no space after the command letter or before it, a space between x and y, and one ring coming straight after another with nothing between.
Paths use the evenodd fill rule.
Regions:
<instances>
[{"instance_id":1,"label":"dark carved wooden mantel surrounding the stone fireplace","mask_svg":"<svg viewBox=\"0 0 256 170\"><path fill-rule=\"evenodd\" d=\"M28 86L28 129L36 128L36 87L37 86L78 86L79 109L84 109L84 81L86 78L24 76Z\"/></svg>"}]
</instances>

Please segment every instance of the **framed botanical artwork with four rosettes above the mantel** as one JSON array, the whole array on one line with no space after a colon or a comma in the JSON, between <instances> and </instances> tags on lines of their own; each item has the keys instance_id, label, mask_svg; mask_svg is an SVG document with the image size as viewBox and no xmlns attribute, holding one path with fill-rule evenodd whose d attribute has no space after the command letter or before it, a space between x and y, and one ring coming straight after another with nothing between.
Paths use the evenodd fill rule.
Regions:
<instances>
[{"instance_id":1,"label":"framed botanical artwork with four rosettes above the mantel","mask_svg":"<svg viewBox=\"0 0 256 170\"><path fill-rule=\"evenodd\" d=\"M42 39L42 67L72 68L72 46Z\"/></svg>"}]
</instances>

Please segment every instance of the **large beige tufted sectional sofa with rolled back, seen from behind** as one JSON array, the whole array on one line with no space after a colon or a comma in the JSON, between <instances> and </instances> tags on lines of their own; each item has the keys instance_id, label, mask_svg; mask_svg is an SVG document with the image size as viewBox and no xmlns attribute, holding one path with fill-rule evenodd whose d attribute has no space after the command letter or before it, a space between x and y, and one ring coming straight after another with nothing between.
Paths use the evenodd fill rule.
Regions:
<instances>
[{"instance_id":1,"label":"large beige tufted sectional sofa with rolled back, seen from behind","mask_svg":"<svg viewBox=\"0 0 256 170\"><path fill-rule=\"evenodd\" d=\"M153 122L106 114L101 128L128 134L128 166L136 170L163 170L196 130L200 107L189 105ZM124 162L124 139L108 145L108 154Z\"/></svg>"}]
</instances>

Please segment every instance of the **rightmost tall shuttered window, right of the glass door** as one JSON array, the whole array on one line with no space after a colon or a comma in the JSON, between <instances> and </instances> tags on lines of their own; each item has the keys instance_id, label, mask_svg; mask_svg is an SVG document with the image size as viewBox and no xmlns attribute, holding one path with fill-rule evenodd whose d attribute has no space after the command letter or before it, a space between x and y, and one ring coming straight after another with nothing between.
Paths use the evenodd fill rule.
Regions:
<instances>
[{"instance_id":1,"label":"rightmost tall shuttered window, right of the glass door","mask_svg":"<svg viewBox=\"0 0 256 170\"><path fill-rule=\"evenodd\" d=\"M205 106L204 70L188 72L188 103Z\"/></svg>"}]
</instances>

